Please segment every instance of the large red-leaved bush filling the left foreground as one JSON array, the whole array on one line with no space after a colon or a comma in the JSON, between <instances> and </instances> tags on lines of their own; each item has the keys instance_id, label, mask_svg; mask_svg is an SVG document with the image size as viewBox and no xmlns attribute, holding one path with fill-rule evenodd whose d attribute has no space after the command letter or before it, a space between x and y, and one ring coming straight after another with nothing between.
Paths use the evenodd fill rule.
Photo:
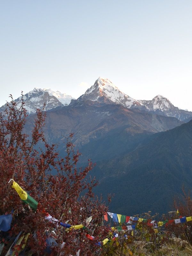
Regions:
<instances>
[{"instance_id":1,"label":"large red-leaved bush filling the left foreground","mask_svg":"<svg viewBox=\"0 0 192 256\"><path fill-rule=\"evenodd\" d=\"M40 109L36 111L30 136L24 133L27 120L24 106L23 100L17 106L12 99L0 114L0 215L14 211L11 229L0 233L5 245L2 255L6 254L10 241L20 231L23 235L29 233L24 255L46 255L47 236L52 236L58 244L51 249L51 255L76 255L79 249L80 255L98 255L100 247L97 242L102 241L108 231L100 225L107 207L92 193L97 182L86 180L92 162L89 161L84 169L76 167L81 154L75 151L70 141L73 134L66 139L63 157L59 156L56 145L46 142L43 132L45 112ZM36 212L21 202L11 182L8 183L10 179L38 202ZM59 221L83 224L87 228L67 230L45 220L47 213ZM90 216L92 221L86 224ZM88 240L86 234L95 236L95 239ZM15 255L20 254L24 243L22 241L20 246L14 247Z\"/></svg>"}]
</instances>

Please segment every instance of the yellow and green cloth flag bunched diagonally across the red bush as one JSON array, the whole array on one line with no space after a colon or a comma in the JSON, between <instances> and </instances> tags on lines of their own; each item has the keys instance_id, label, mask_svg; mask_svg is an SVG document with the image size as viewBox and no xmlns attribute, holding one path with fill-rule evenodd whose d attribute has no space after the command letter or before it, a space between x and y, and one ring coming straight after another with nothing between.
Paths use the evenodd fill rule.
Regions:
<instances>
[{"instance_id":1,"label":"yellow and green cloth flag bunched diagonally across the red bush","mask_svg":"<svg viewBox=\"0 0 192 256\"><path fill-rule=\"evenodd\" d=\"M38 205L37 201L33 197L29 196L28 193L25 190L23 190L14 180L12 188L14 188L17 191L23 203L28 204L31 207L31 209L36 211Z\"/></svg>"}]
</instances>

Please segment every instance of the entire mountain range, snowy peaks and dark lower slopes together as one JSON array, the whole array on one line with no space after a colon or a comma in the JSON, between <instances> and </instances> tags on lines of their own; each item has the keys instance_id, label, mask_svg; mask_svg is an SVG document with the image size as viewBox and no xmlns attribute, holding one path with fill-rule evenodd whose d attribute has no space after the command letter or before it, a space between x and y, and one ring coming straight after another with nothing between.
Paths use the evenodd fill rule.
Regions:
<instances>
[{"instance_id":1,"label":"entire mountain range, snowy peaks and dark lower slopes together","mask_svg":"<svg viewBox=\"0 0 192 256\"><path fill-rule=\"evenodd\" d=\"M24 95L28 110L26 132L32 129L35 108L46 103L44 132L48 143L64 141L82 152L80 164L89 158L100 184L95 193L115 193L110 211L137 214L172 210L172 199L192 180L192 112L174 107L161 95L135 100L99 77L77 100L51 89ZM21 103L21 98L16 100ZM6 106L2 106L3 111Z\"/></svg>"}]
</instances>

